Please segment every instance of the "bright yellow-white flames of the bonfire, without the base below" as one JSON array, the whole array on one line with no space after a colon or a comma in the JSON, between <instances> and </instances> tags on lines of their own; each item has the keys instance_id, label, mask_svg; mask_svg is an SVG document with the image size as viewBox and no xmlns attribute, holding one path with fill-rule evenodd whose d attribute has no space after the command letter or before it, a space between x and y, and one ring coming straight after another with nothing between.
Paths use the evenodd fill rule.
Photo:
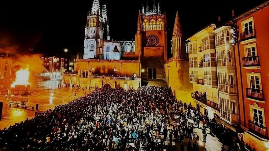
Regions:
<instances>
[{"instance_id":1,"label":"bright yellow-white flames of the bonfire, without the base below","mask_svg":"<svg viewBox=\"0 0 269 151\"><path fill-rule=\"evenodd\" d=\"M28 85L30 84L28 82L29 80L29 68L26 69L20 69L16 72L16 80L13 82L13 84L11 84L11 87L14 88L15 85Z\"/></svg>"}]
</instances>

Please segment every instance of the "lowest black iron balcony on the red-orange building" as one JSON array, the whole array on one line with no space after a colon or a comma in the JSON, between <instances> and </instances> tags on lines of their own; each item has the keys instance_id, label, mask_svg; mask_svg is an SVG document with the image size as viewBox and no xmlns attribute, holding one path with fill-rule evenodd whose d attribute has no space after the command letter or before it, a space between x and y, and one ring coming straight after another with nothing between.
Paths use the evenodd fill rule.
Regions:
<instances>
[{"instance_id":1,"label":"lowest black iron balcony on the red-orange building","mask_svg":"<svg viewBox=\"0 0 269 151\"><path fill-rule=\"evenodd\" d=\"M267 138L267 127L256 125L251 120L249 120L249 131L262 138Z\"/></svg>"}]
</instances>

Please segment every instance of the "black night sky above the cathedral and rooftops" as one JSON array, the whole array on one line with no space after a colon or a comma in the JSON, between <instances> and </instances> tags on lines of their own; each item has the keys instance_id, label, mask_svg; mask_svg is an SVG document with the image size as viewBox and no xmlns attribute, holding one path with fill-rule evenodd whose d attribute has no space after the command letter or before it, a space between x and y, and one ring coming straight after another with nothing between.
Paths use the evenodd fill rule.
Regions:
<instances>
[{"instance_id":1,"label":"black night sky above the cathedral and rooftops","mask_svg":"<svg viewBox=\"0 0 269 151\"><path fill-rule=\"evenodd\" d=\"M132 40L137 28L138 10L146 0L100 0L107 4L110 35L114 40ZM151 1L151 0L149 0ZM176 1L160 0L161 10L167 12L168 33L174 24L175 12L179 11L186 37L199 31L209 23L231 17L234 8L238 15L265 2L255 0L237 1ZM83 52L84 27L88 8L92 0L82 1L20 1L0 5L0 49L17 46L19 52L34 52L46 55L61 54L64 48L69 53ZM149 2L151 3L151 2ZM170 37L168 37L170 38Z\"/></svg>"}]
</instances>

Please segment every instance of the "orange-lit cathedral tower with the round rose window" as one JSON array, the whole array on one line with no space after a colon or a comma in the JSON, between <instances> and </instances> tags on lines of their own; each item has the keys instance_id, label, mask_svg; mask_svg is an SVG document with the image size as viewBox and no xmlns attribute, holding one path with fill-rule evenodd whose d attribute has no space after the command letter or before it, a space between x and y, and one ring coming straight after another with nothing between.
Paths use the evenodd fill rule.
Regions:
<instances>
[{"instance_id":1,"label":"orange-lit cathedral tower with the round rose window","mask_svg":"<svg viewBox=\"0 0 269 151\"><path fill-rule=\"evenodd\" d=\"M153 2L153 9L149 10L147 2L146 12L142 5L139 11L138 28L135 39L136 52L141 56L142 78L164 79L164 63L167 60L167 31L166 15L160 12Z\"/></svg>"}]
</instances>

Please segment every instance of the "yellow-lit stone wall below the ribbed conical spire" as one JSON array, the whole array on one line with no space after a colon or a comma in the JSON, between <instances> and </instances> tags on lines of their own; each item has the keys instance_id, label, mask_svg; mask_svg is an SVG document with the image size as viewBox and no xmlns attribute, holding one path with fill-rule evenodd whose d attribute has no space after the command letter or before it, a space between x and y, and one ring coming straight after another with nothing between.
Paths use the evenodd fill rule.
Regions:
<instances>
[{"instance_id":1,"label":"yellow-lit stone wall below the ribbed conical spire","mask_svg":"<svg viewBox=\"0 0 269 151\"><path fill-rule=\"evenodd\" d=\"M189 80L189 63L186 60L173 60L164 64L165 81L171 87L176 99L192 103L192 84Z\"/></svg>"}]
</instances>

